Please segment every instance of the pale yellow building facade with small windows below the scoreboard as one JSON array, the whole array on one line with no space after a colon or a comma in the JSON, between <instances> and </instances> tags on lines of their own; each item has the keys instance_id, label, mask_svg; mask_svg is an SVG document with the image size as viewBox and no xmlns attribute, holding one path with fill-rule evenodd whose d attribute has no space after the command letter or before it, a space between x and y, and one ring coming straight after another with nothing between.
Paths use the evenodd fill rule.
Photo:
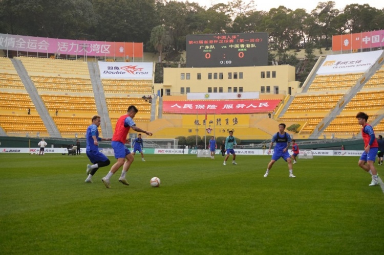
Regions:
<instances>
[{"instance_id":1,"label":"pale yellow building facade with small windows below the scoreboard","mask_svg":"<svg viewBox=\"0 0 384 255\"><path fill-rule=\"evenodd\" d=\"M164 68L164 82L154 84L154 92L163 95L189 92L253 92L260 95L295 95L300 82L295 81L295 67L290 65Z\"/></svg>"}]
</instances>

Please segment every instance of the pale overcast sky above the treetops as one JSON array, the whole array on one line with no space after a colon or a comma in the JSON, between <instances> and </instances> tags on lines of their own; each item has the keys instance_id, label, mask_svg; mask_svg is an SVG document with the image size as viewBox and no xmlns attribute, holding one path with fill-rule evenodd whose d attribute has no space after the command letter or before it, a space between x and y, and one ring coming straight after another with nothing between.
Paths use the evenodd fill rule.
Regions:
<instances>
[{"instance_id":1,"label":"pale overcast sky above the treetops","mask_svg":"<svg viewBox=\"0 0 384 255\"><path fill-rule=\"evenodd\" d=\"M187 0L177 0L179 2L186 2ZM210 7L212 4L225 3L227 4L228 0L188 0L188 2L198 3L200 6ZM231 1L233 2L233 1ZM248 0L244 0L245 3L248 3ZM317 3L319 2L328 2L325 1L317 1L317 0L254 0L256 5L256 10L258 11L269 11L272 8L278 8L283 5L289 9L296 10L297 8L304 8L307 12L311 12L316 8ZM377 9L384 8L383 0L335 0L334 1L336 9L343 10L346 5L350 4L369 4L371 7L375 7Z\"/></svg>"}]
</instances>

